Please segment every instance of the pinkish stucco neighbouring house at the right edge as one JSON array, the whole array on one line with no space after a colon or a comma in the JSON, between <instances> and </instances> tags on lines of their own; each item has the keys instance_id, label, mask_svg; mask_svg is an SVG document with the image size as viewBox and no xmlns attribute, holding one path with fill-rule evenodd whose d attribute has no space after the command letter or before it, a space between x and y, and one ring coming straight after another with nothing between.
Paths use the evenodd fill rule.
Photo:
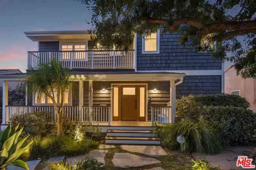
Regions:
<instances>
[{"instance_id":1,"label":"pinkish stucco neighbouring house at the right edge","mask_svg":"<svg viewBox=\"0 0 256 170\"><path fill-rule=\"evenodd\" d=\"M230 67L225 71L225 93L246 98L256 112L256 79L243 79Z\"/></svg>"}]
</instances>

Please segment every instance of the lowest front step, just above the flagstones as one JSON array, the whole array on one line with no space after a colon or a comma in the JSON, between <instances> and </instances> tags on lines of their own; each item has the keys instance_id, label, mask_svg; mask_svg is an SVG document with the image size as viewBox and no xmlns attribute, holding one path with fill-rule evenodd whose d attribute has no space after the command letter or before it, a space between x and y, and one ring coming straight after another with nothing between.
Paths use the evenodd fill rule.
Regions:
<instances>
[{"instance_id":1,"label":"lowest front step, just above the flagstones","mask_svg":"<svg viewBox=\"0 0 256 170\"><path fill-rule=\"evenodd\" d=\"M106 136L105 143L116 144L138 144L138 145L160 145L161 141L156 137L123 137L123 136Z\"/></svg>"}]
</instances>

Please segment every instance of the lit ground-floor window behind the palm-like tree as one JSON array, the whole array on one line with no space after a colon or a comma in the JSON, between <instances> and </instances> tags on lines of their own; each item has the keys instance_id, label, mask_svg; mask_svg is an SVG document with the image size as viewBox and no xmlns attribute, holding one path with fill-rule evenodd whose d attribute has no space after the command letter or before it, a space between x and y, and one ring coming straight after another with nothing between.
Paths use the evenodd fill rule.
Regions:
<instances>
[{"instance_id":1,"label":"lit ground-floor window behind the palm-like tree","mask_svg":"<svg viewBox=\"0 0 256 170\"><path fill-rule=\"evenodd\" d=\"M57 104L60 104L61 95L56 91L54 93L54 98ZM72 105L72 92L70 90L64 92L64 104ZM37 93L33 93L33 105L52 105L52 99L45 97L45 95L39 96Z\"/></svg>"}]
</instances>

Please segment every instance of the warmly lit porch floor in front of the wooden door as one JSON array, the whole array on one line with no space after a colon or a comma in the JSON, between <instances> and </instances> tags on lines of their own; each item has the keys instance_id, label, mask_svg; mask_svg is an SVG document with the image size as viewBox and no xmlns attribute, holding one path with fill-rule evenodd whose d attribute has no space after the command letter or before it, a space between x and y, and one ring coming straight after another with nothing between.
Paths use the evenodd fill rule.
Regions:
<instances>
[{"instance_id":1,"label":"warmly lit porch floor in front of the wooden door","mask_svg":"<svg viewBox=\"0 0 256 170\"><path fill-rule=\"evenodd\" d=\"M108 122L106 122L106 123L94 122L93 125L109 126ZM151 126L151 122L146 122L146 121L111 121L110 126Z\"/></svg>"}]
</instances>

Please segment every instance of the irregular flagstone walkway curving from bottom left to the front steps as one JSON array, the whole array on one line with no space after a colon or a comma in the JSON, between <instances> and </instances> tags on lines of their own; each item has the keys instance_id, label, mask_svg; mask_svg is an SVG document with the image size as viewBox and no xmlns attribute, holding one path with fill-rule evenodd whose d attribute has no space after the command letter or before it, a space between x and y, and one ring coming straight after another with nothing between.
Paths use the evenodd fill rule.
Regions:
<instances>
[{"instance_id":1,"label":"irregular flagstone walkway curving from bottom left to the front steps","mask_svg":"<svg viewBox=\"0 0 256 170\"><path fill-rule=\"evenodd\" d=\"M104 166L105 165L104 158L105 158L106 154L108 153L108 150L106 150L106 149L112 149L112 148L115 148L115 146L114 145L99 145L98 150L90 151L88 154L85 154L85 155L69 157L66 159L66 163L69 165L76 165L77 162L83 160L85 157L91 157L91 158L97 159L98 162L102 163ZM137 152L137 153L141 153L144 155L150 155L150 156L165 156L165 155L167 155L167 153L160 146L122 145L121 149L127 150L129 152ZM58 163L64 159L65 159L65 156L56 156L56 157L49 158L45 162L46 167L44 168L44 170L49 169L50 163ZM35 161L38 162L38 160L35 160ZM33 162L33 161L30 161L30 162ZM130 154L130 153L115 153L113 156L112 162L115 167L121 167L121 168L141 167L141 166L145 166L145 165L152 165L152 164L160 163L160 161L157 159L138 156L138 155L134 155L134 154ZM28 162L28 165L29 165L29 162ZM33 170L35 168L35 166L29 167L29 168L31 170ZM8 169L9 168L12 168L12 166L8 167ZM17 168L15 167L15 170L16 169ZM10 169L10 170L14 170L14 169ZM156 168L152 168L149 170L163 170L163 169L161 167L156 167Z\"/></svg>"}]
</instances>

